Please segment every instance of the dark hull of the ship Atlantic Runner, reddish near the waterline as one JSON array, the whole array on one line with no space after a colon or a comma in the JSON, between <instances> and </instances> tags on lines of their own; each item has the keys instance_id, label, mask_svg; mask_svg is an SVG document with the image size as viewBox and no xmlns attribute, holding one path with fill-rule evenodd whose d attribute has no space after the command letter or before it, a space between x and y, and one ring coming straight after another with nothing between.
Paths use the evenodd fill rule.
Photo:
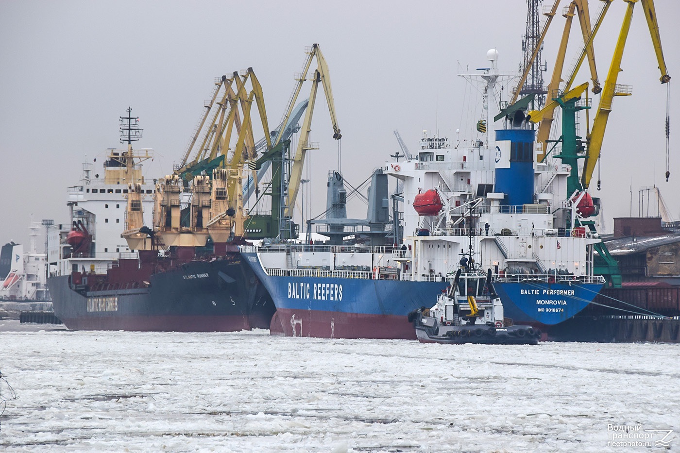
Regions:
<instances>
[{"instance_id":1,"label":"dark hull of the ship Atlantic Runner, reddish near the waterline","mask_svg":"<svg viewBox=\"0 0 680 453\"><path fill-rule=\"evenodd\" d=\"M54 314L72 330L267 329L275 310L241 261L194 261L151 275L148 283L142 288L99 285L89 290L72 285L71 275L48 280Z\"/></svg>"}]
</instances>

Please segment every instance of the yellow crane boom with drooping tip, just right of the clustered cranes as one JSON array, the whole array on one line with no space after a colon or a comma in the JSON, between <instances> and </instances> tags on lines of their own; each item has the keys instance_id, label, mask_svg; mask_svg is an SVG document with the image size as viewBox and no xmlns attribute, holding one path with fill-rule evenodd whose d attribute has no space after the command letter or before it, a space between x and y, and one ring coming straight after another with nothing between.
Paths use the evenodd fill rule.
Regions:
<instances>
[{"instance_id":1,"label":"yellow crane boom with drooping tip, just right of the clustered cranes","mask_svg":"<svg viewBox=\"0 0 680 453\"><path fill-rule=\"evenodd\" d=\"M312 60L316 57L317 68L314 70L313 76L311 77L311 91L309 94L309 105L307 105L307 111L305 112L305 119L301 126L301 133L298 139L297 150L292 158L292 166L290 169L290 177L288 178L288 197L284 203L284 218L292 218L293 206L295 204L295 199L300 189L300 180L302 176L303 164L305 162L305 154L307 150L314 149L311 144L309 144L309 132L311 131L311 117L314 112L314 103L316 101L316 92L318 91L319 84L322 84L324 88L324 94L326 95L326 103L328 104L328 112L330 112L330 120L333 122L333 138L336 140L341 139L340 128L337 125L337 118L335 116L335 103L333 102L333 90L330 88L330 73L328 71L328 64L326 59L321 52L321 48L318 44L313 44L311 48L306 50L307 58L305 60L305 65L303 67L303 72L300 78L297 80L297 84L293 91L293 95L288 103L288 108L286 109L286 114L284 115L284 121L286 123L290 113L292 112L293 106L297 100L297 97L302 88L303 82L306 80L307 71L311 66ZM283 130L279 131L279 135L276 137L272 146L279 144L279 140L283 135Z\"/></svg>"}]
</instances>

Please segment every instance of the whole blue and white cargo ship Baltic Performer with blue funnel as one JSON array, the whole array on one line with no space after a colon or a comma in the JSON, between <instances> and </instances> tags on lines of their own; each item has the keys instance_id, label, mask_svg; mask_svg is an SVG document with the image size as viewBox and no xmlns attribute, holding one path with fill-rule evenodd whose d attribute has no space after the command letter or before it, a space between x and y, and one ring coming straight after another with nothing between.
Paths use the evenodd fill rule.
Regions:
<instances>
[{"instance_id":1,"label":"whole blue and white cargo ship Baltic Performer with blue funnel","mask_svg":"<svg viewBox=\"0 0 680 453\"><path fill-rule=\"evenodd\" d=\"M514 76L498 71L497 57L490 50L490 67L465 75L481 84L489 115L496 86ZM492 269L508 324L545 332L581 312L605 284L594 275L602 241L579 220L594 214L594 202L568 192L571 165L537 162L527 105L522 99L481 118L466 144L424 133L417 156L381 168L403 183L399 247L241 247L276 305L271 333L415 338L407 315L430 306L461 267Z\"/></svg>"}]
</instances>

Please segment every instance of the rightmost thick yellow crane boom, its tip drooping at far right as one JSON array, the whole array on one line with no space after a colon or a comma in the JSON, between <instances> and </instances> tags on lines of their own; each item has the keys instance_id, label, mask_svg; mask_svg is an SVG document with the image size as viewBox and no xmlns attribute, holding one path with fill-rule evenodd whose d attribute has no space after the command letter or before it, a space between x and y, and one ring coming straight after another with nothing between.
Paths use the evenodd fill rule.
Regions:
<instances>
[{"instance_id":1,"label":"rightmost thick yellow crane boom, its tip drooping at far right","mask_svg":"<svg viewBox=\"0 0 680 453\"><path fill-rule=\"evenodd\" d=\"M624 46L626 45L626 38L630 29L630 22L633 15L633 7L635 3L641 1L645 17L647 18L647 26L651 35L651 41L656 53L656 59L659 63L661 71L660 81L662 84L670 82L670 75L666 69L666 62L664 61L664 54L661 48L661 37L659 35L659 26L656 22L656 10L654 8L653 0L624 0L628 3L624 21L619 33L614 55L609 66L609 73L607 73L607 80L605 80L605 87L602 89L602 97L598 110L593 121L592 131L588 140L588 152L585 154L585 161L583 163L583 173L581 174L581 183L583 188L590 186L590 180L595 169L595 164L600 158L600 150L602 148L602 139L605 136L605 129L607 128L607 120L611 112L611 102L615 96L629 96L631 94L630 86L617 85L619 72L621 69L621 61L624 54ZM666 180L668 179L668 170L666 170ZM598 182L599 186L599 182Z\"/></svg>"}]
</instances>

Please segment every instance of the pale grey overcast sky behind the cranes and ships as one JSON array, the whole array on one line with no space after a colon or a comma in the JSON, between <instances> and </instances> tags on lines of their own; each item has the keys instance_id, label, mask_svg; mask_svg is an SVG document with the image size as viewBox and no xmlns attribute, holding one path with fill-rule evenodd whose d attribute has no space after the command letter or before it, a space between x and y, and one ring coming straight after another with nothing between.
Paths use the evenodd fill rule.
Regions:
<instances>
[{"instance_id":1,"label":"pale grey overcast sky behind the cranes and ships","mask_svg":"<svg viewBox=\"0 0 680 453\"><path fill-rule=\"evenodd\" d=\"M601 2L591 3L595 16ZM625 5L613 3L596 40L602 81ZM680 2L657 0L656 9L668 73L680 80ZM253 67L275 127L305 46L313 43L330 67L343 134L341 169L359 184L398 150L394 129L411 150L424 129L455 137L469 91L456 76L458 65L485 67L487 50L496 48L500 69L516 70L525 22L525 0L0 0L0 243L27 243L31 214L37 221L69 220L67 187L78 183L85 156L100 157L95 168L103 173L101 157L120 146L118 117L129 106L144 129L137 148L156 152L145 166L147 178L170 173L181 161L216 76ZM545 43L549 69L563 24L557 16ZM572 41L579 33L574 25ZM573 56L568 53L567 62ZM657 66L638 3L619 75L633 95L614 100L602 147L602 190L593 190L602 197L609 230L611 218L628 216L631 188L636 214L641 186L660 186L670 213L680 218L680 139L673 129L680 109L677 101L670 108L671 175L665 182L666 88ZM577 83L588 78L581 71ZM310 139L321 149L309 152L311 195L305 199L313 213L324 210L326 173L337 167L332 135L320 93ZM365 216L365 205L352 208L351 217Z\"/></svg>"}]
</instances>

